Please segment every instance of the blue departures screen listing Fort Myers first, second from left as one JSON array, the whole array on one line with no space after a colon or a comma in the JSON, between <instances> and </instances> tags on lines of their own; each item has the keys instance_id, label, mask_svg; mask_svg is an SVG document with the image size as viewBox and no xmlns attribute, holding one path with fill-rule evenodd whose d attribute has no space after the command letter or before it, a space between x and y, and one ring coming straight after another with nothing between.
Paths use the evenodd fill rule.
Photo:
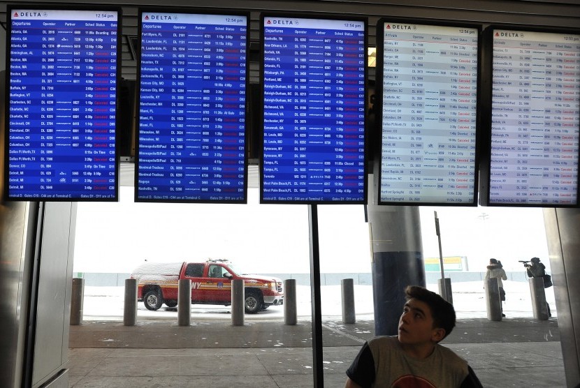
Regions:
<instances>
[{"instance_id":1,"label":"blue departures screen listing Fort Myers first, second from left","mask_svg":"<svg viewBox=\"0 0 580 388\"><path fill-rule=\"evenodd\" d=\"M137 202L247 201L247 24L140 13Z\"/></svg>"}]
</instances>

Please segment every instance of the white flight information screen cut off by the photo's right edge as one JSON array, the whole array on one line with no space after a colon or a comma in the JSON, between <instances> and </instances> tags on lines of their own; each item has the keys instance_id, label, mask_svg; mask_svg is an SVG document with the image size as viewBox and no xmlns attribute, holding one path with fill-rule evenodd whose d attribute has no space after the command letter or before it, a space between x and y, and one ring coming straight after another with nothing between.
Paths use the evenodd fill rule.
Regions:
<instances>
[{"instance_id":1,"label":"white flight information screen cut off by the photo's right edge","mask_svg":"<svg viewBox=\"0 0 580 388\"><path fill-rule=\"evenodd\" d=\"M488 204L578 204L580 35L493 29Z\"/></svg>"}]
</instances>

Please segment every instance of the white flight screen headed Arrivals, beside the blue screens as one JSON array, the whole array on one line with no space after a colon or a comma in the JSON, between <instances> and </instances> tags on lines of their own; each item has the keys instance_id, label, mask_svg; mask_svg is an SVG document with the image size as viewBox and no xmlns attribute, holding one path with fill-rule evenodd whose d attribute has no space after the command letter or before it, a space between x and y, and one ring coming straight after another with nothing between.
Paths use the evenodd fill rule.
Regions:
<instances>
[{"instance_id":1,"label":"white flight screen headed Arrivals, beside the blue screens","mask_svg":"<svg viewBox=\"0 0 580 388\"><path fill-rule=\"evenodd\" d=\"M476 205L479 29L381 20L377 31L379 203Z\"/></svg>"}]
</instances>

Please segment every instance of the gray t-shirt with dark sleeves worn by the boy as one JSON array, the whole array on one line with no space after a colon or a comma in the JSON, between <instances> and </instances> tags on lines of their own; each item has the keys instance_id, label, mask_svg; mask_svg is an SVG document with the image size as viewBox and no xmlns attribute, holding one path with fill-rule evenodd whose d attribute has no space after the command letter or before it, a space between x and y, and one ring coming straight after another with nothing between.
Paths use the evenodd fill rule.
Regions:
<instances>
[{"instance_id":1,"label":"gray t-shirt with dark sleeves worn by the boy","mask_svg":"<svg viewBox=\"0 0 580 388\"><path fill-rule=\"evenodd\" d=\"M470 375L467 362L441 345L435 345L425 359L416 359L403 351L396 336L379 336L368 341L368 351L375 364L375 379L370 385L365 379L372 373L366 373L361 365L370 359L360 357L361 353L347 371L349 378L363 387L461 387Z\"/></svg>"}]
</instances>

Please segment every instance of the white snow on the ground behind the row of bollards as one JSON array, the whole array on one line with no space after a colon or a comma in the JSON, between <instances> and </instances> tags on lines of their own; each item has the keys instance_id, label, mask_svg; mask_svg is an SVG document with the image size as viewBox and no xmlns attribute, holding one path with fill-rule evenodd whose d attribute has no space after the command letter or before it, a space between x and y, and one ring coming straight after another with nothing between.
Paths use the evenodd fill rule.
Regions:
<instances>
[{"instance_id":1,"label":"white snow on the ground behind the row of bollards","mask_svg":"<svg viewBox=\"0 0 580 388\"><path fill-rule=\"evenodd\" d=\"M507 318L533 317L530 287L527 282L504 281L506 301L503 311ZM438 292L436 284L428 284L429 290ZM485 291L482 282L452 283L453 302L458 319L487 318ZM321 287L321 311L323 320L342 319L340 285ZM310 320L310 287L296 286L296 310L299 318ZM546 301L551 313L556 316L553 288L546 288ZM123 320L124 287L85 287L83 301L84 320ZM372 286L354 285L354 305L357 320L372 320ZM191 306L192 320L231 320L230 306L194 304ZM177 309L165 305L158 311L149 311L138 302L137 318L143 320L177 320ZM270 306L256 315L245 315L245 320L283 320L284 307Z\"/></svg>"}]
</instances>

